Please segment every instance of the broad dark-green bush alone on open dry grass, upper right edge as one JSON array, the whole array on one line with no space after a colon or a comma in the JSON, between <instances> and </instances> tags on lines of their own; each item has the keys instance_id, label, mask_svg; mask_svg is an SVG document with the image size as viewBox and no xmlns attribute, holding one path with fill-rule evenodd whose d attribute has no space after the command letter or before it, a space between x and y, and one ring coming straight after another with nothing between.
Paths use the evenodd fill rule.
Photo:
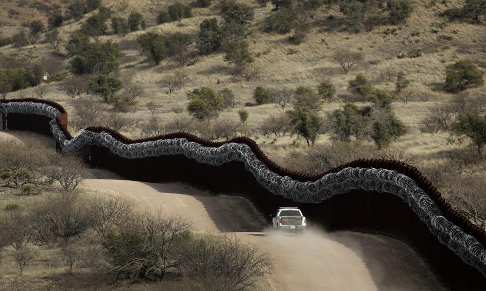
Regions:
<instances>
[{"instance_id":1,"label":"broad dark-green bush alone on open dry grass, upper right edge","mask_svg":"<svg viewBox=\"0 0 486 291\"><path fill-rule=\"evenodd\" d=\"M471 61L457 61L446 68L445 87L450 92L479 87L483 84L483 73Z\"/></svg>"}]
</instances>

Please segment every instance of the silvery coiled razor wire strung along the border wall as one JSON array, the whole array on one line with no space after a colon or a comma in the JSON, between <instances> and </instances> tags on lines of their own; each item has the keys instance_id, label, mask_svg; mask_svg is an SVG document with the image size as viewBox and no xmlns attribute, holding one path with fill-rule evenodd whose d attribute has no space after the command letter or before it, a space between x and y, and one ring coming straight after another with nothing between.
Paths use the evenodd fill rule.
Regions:
<instances>
[{"instance_id":1,"label":"silvery coiled razor wire strung along the border wall","mask_svg":"<svg viewBox=\"0 0 486 291\"><path fill-rule=\"evenodd\" d=\"M251 148L245 144L227 143L219 147L207 147L190 142L186 138L147 141L124 144L107 132L82 130L68 140L56 122L59 110L44 103L9 102L2 106L4 113L40 114L52 118L52 136L62 150L74 154L83 146L104 146L116 155L127 159L155 157L161 155L184 155L197 162L221 165L226 162L240 161L257 181L269 192L303 203L319 203L337 194L351 190L374 191L399 196L408 203L438 238L464 262L474 266L486 276L486 251L474 237L465 233L459 226L448 221L437 208L434 201L417 187L415 181L397 171L375 168L345 168L330 173L317 181L300 182L290 177L282 177L268 169L258 160Z\"/></svg>"}]
</instances>

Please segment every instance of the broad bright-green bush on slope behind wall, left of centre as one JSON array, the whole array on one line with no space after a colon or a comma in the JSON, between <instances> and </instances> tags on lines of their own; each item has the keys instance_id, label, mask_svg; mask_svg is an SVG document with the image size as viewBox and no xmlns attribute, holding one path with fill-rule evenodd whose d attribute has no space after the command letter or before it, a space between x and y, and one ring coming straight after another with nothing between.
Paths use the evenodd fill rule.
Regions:
<instances>
[{"instance_id":1,"label":"broad bright-green bush on slope behind wall, left of centre","mask_svg":"<svg viewBox=\"0 0 486 291\"><path fill-rule=\"evenodd\" d=\"M187 111L199 119L215 117L224 107L223 97L211 88L194 89L187 97Z\"/></svg>"}]
</instances>

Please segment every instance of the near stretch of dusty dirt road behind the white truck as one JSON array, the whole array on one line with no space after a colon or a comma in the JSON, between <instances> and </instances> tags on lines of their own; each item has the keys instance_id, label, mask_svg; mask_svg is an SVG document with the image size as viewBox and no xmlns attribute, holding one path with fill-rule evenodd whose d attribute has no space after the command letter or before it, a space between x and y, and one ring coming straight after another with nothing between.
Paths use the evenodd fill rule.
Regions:
<instances>
[{"instance_id":1,"label":"near stretch of dusty dirt road behind the white truck","mask_svg":"<svg viewBox=\"0 0 486 291\"><path fill-rule=\"evenodd\" d=\"M445 290L410 246L394 238L316 228L246 235L273 257L268 280L279 291Z\"/></svg>"}]
</instances>

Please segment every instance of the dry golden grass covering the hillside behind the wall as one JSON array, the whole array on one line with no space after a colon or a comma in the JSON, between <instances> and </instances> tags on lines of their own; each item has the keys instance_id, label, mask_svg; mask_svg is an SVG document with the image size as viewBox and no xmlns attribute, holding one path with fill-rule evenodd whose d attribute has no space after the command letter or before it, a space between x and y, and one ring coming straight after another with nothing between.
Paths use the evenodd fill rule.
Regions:
<instances>
[{"instance_id":1,"label":"dry golden grass covering the hillside behind the wall","mask_svg":"<svg viewBox=\"0 0 486 291\"><path fill-rule=\"evenodd\" d=\"M145 32L156 32L163 35L183 32L190 34L195 39L203 20L216 15L218 22L223 22L223 18L218 14L218 4L213 1L214 3L207 8L193 7L189 18L157 25L157 15L174 2L191 3L191 1L162 0L103 1L103 4L111 9L111 18L128 17L132 12L138 12L142 14L146 22L145 30L129 32L120 36L113 34L109 25L110 21L107 21L106 33L96 37L96 41L99 42L110 40L121 44L123 53L120 59L121 64L119 70L113 72L112 75L120 78L124 83L135 84L144 91L143 95L135 99L137 104L130 109L132 112L121 113L120 130L129 137L139 137L144 132L147 134L142 129L149 126L152 126L149 130L152 135L171 131L176 123L173 122L174 119L179 126L181 123L189 122L186 110L187 92L192 89L209 87L220 91L228 88L235 95L236 105L234 108L222 110L218 120L228 127L234 125L236 129L224 129L223 131L229 132L229 136L234 135L235 132L238 132L237 135L249 135L259 143L270 158L286 167L293 167L299 171L314 171L315 166L311 166L311 168L302 166L309 163L306 158L309 149L304 139L288 133L277 136L277 134L263 132L260 129L262 125L270 122L267 119L269 115L283 114L283 110L274 103L245 106L246 103L254 101L252 96L255 88L262 86L295 90L299 86L308 86L315 90L317 85L324 80L330 81L334 85L336 89L334 99L324 103L317 112L317 115L323 118L325 126L317 134L315 146L310 150L312 152L312 150L319 151L321 145L328 145L331 142L332 130L330 130L331 125L328 119L330 113L343 108L349 102L353 102L358 107L371 104L356 102L356 98L353 101L353 97L348 92L349 81L354 80L358 74L364 74L375 88L393 92L396 76L398 72L402 71L410 80L407 94L411 100L404 104L397 99L391 104L391 110L403 122L406 133L393 141L386 148L386 153L376 152L373 140L369 137L361 139L360 145L366 150L372 151L373 155L401 157L408 162L416 163L419 168L422 167L426 171L430 167L441 167L441 165L447 164L450 162L451 151L462 150L467 145L467 142L451 142L453 138L451 138L451 132L447 130L436 132L421 130L423 128L422 120L429 114L432 106L448 104L457 97L457 94L444 90L448 65L467 59L480 71L484 72L486 69L484 62L486 59L485 25L474 23L470 17L452 17L450 19L447 16L440 16L444 13L451 15L451 11L461 9L463 1L413 1L413 11L402 24L395 25L386 20L383 21L384 24L376 25L371 31L362 29L357 33L349 31L347 18L340 12L338 5L322 5L312 13L313 16L306 20L310 24L310 29L306 33L304 41L299 45L289 42L289 36L293 35L294 30L283 34L264 31L266 18L272 13L275 14L272 12L273 6L270 2L261 7L256 1L239 1L254 10L254 19L249 21L246 27L246 30L251 32L247 35L246 41L249 43L249 51L254 58L252 65L260 70L259 77L251 81L235 81L232 76L234 65L228 65L224 61L224 53L217 51L208 55L197 55L197 62L194 65L184 67L191 76L191 82L184 85L181 90L176 88L173 93L170 93L168 88L163 87L160 82L171 76L179 65L171 58L163 59L159 65L150 65L145 61L146 56L141 55L134 48L134 40ZM51 4L56 3L51 1ZM18 6L18 1L12 1L9 5ZM21 17L34 13L26 7L28 8L28 5L18 8L22 13L19 14L17 20L13 21L16 26L2 28L4 35L11 35L18 31L19 24L22 22L20 19L23 19ZM62 10L62 8L60 9ZM383 9L383 11L385 10ZM71 35L81 28L88 17L95 13L97 11L89 12L78 21L70 19L59 27L63 44L65 45ZM3 14L5 14L5 10ZM35 17L41 16L40 12L35 12ZM383 17L383 19L387 19L386 11L383 13ZM56 55L59 55L60 60L67 66L70 58L66 55L64 45L59 46L60 53L56 53ZM194 40L190 48L195 50L195 46ZM335 52L346 49L364 54L364 61L353 66L348 74L345 74L342 68L333 61ZM413 55L417 51L419 57L399 58L399 55ZM52 47L46 43L36 43L20 49L13 48L12 45L2 48L2 56L15 56L16 58L28 56L33 60L46 60L45 58L51 54ZM49 83L47 98L62 104L69 112L69 119L73 121L76 118L73 99L62 90L62 84L63 82ZM37 88L19 90L9 93L7 98L35 97L36 90ZM480 86L468 89L466 94L469 97L483 98L484 91L484 86ZM84 97L85 94L74 99ZM157 111L154 114L147 107L149 102L155 103ZM115 114L111 105L99 102L99 107ZM288 105L285 111L291 108L292 105ZM244 127L241 124L238 125L240 109L246 110L249 116ZM111 119L113 120L113 118ZM204 132L209 123L205 124L198 120L191 122L191 128L185 127L184 129L205 137L211 135ZM75 133L78 129L73 128L72 130ZM353 141L354 138L351 140ZM352 148L353 146L349 144L348 149L352 151ZM361 147L358 146L358 148ZM354 150L356 151L356 149ZM355 152L350 156L361 157L367 153L369 152ZM301 162L295 162L295 159ZM482 167L475 167L474 171L481 172L481 169Z\"/></svg>"}]
</instances>

